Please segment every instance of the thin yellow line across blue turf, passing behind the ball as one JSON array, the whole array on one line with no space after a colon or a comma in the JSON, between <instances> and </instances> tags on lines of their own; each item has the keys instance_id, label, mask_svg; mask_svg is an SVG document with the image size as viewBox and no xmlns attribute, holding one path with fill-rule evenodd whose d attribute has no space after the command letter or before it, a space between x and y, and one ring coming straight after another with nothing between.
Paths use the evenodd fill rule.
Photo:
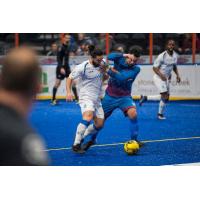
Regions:
<instances>
[{"instance_id":1,"label":"thin yellow line across blue turf, passing behind the ball","mask_svg":"<svg viewBox=\"0 0 200 200\"><path fill-rule=\"evenodd\" d=\"M141 142L154 143L154 142L169 142L169 141L195 140L195 139L200 139L200 136L188 137L188 138L167 138L167 139L161 139L161 140L144 140ZM97 145L94 145L93 147L117 146L117 145L123 145L123 144L124 144L124 142L113 143L113 144L97 144ZM44 151L62 151L62 150L70 150L70 149L71 149L71 147L63 147L63 148L50 148L50 149L46 149Z\"/></svg>"}]
</instances>

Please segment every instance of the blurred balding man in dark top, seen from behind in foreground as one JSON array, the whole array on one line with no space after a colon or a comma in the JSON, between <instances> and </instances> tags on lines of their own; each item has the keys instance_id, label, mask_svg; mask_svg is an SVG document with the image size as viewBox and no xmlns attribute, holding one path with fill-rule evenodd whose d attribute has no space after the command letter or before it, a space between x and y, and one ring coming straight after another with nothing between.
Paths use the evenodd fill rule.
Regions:
<instances>
[{"instance_id":1,"label":"blurred balding man in dark top, seen from behind in foreground","mask_svg":"<svg viewBox=\"0 0 200 200\"><path fill-rule=\"evenodd\" d=\"M12 49L0 73L0 165L48 165L44 144L27 121L40 90L41 68L35 52Z\"/></svg>"}]
</instances>

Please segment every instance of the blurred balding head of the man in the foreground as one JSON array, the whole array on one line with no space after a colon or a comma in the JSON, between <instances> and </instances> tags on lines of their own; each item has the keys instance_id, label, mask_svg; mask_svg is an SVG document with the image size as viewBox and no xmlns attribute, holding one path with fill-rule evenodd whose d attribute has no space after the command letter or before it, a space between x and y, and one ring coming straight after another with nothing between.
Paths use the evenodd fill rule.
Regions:
<instances>
[{"instance_id":1,"label":"blurred balding head of the man in the foreground","mask_svg":"<svg viewBox=\"0 0 200 200\"><path fill-rule=\"evenodd\" d=\"M26 55L27 54L27 57ZM25 58L23 57L25 55ZM33 50L20 47L11 50L3 59L0 87L23 95L35 95L40 83L41 68Z\"/></svg>"}]
</instances>

